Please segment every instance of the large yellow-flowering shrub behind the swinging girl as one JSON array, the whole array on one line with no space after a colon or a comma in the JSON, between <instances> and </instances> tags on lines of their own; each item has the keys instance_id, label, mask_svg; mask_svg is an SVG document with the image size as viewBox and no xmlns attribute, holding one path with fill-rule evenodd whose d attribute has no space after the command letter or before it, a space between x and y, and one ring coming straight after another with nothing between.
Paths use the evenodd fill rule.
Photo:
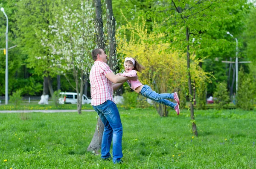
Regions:
<instances>
[{"instance_id":1,"label":"large yellow-flowering shrub behind the swinging girl","mask_svg":"<svg viewBox=\"0 0 256 169\"><path fill-rule=\"evenodd\" d=\"M142 23L142 24L141 24ZM166 34L158 31L159 26L154 24L152 32L147 33L145 20L138 18L137 23L127 21L127 24L118 29L119 32L130 32L131 38L124 43L119 50L126 56L135 57L139 63L145 66L145 71L140 73L143 84L152 86L158 93L172 93L180 91L180 100L186 96L182 95L186 90L186 60L179 57L179 51L170 52L170 44L164 41ZM123 35L119 39L126 41ZM180 54L184 56L184 54ZM192 57L192 76L198 82L209 80L209 77L198 66L199 60ZM160 116L168 116L167 107L156 104Z\"/></svg>"}]
</instances>

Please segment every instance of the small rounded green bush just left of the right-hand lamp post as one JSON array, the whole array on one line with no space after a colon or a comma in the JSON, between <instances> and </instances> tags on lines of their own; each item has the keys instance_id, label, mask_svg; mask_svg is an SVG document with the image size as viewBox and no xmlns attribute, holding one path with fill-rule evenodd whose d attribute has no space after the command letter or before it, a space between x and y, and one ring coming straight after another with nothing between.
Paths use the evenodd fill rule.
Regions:
<instances>
[{"instance_id":1,"label":"small rounded green bush just left of the right-hand lamp post","mask_svg":"<svg viewBox=\"0 0 256 169\"><path fill-rule=\"evenodd\" d=\"M215 102L217 103L217 109L222 109L224 106L227 106L227 104L230 102L230 97L227 92L227 84L224 82L218 83L213 97L216 97Z\"/></svg>"}]
</instances>

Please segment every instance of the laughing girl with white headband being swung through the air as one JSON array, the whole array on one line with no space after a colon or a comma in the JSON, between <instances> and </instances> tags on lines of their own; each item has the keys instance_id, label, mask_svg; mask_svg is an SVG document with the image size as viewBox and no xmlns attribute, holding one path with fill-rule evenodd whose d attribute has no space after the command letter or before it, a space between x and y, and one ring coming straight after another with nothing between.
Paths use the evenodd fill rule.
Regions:
<instances>
[{"instance_id":1,"label":"laughing girl with white headband being swung through the air","mask_svg":"<svg viewBox=\"0 0 256 169\"><path fill-rule=\"evenodd\" d=\"M144 66L142 66L140 63L137 62L136 59L132 57L126 57L125 58L125 72L118 73L119 76L126 76L126 77L135 77L137 75L137 72L141 72L143 69L145 69ZM159 94L157 92L152 91L152 89L148 85L143 85L140 83L140 81L137 80L128 80L128 85L131 89L133 89L135 92L143 95L146 98L149 98L157 103L162 103L166 106L170 106L177 112L177 115L180 114L180 100L177 95L177 92L175 93L162 93ZM174 99L177 103L173 103L166 99Z\"/></svg>"}]
</instances>

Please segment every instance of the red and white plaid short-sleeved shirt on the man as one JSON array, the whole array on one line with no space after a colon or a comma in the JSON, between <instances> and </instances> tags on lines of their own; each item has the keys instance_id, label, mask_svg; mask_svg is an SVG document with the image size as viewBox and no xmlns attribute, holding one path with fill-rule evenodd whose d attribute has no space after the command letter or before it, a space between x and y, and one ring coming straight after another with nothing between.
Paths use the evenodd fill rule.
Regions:
<instances>
[{"instance_id":1,"label":"red and white plaid short-sleeved shirt on the man","mask_svg":"<svg viewBox=\"0 0 256 169\"><path fill-rule=\"evenodd\" d=\"M114 102L112 82L105 76L105 74L111 72L113 71L107 63L101 61L94 62L90 70L92 106L98 106L107 100Z\"/></svg>"}]
</instances>

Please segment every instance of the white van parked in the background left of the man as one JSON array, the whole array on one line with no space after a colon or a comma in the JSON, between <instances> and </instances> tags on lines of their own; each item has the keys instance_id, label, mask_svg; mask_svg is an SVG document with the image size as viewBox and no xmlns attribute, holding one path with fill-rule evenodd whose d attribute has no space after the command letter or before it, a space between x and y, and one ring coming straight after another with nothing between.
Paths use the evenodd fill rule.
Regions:
<instances>
[{"instance_id":1,"label":"white van parked in the background left of the man","mask_svg":"<svg viewBox=\"0 0 256 169\"><path fill-rule=\"evenodd\" d=\"M76 104L77 103L77 93L73 92L60 92L61 97L59 98L60 104ZM82 104L90 104L91 100L88 99L86 95L82 96Z\"/></svg>"}]
</instances>

